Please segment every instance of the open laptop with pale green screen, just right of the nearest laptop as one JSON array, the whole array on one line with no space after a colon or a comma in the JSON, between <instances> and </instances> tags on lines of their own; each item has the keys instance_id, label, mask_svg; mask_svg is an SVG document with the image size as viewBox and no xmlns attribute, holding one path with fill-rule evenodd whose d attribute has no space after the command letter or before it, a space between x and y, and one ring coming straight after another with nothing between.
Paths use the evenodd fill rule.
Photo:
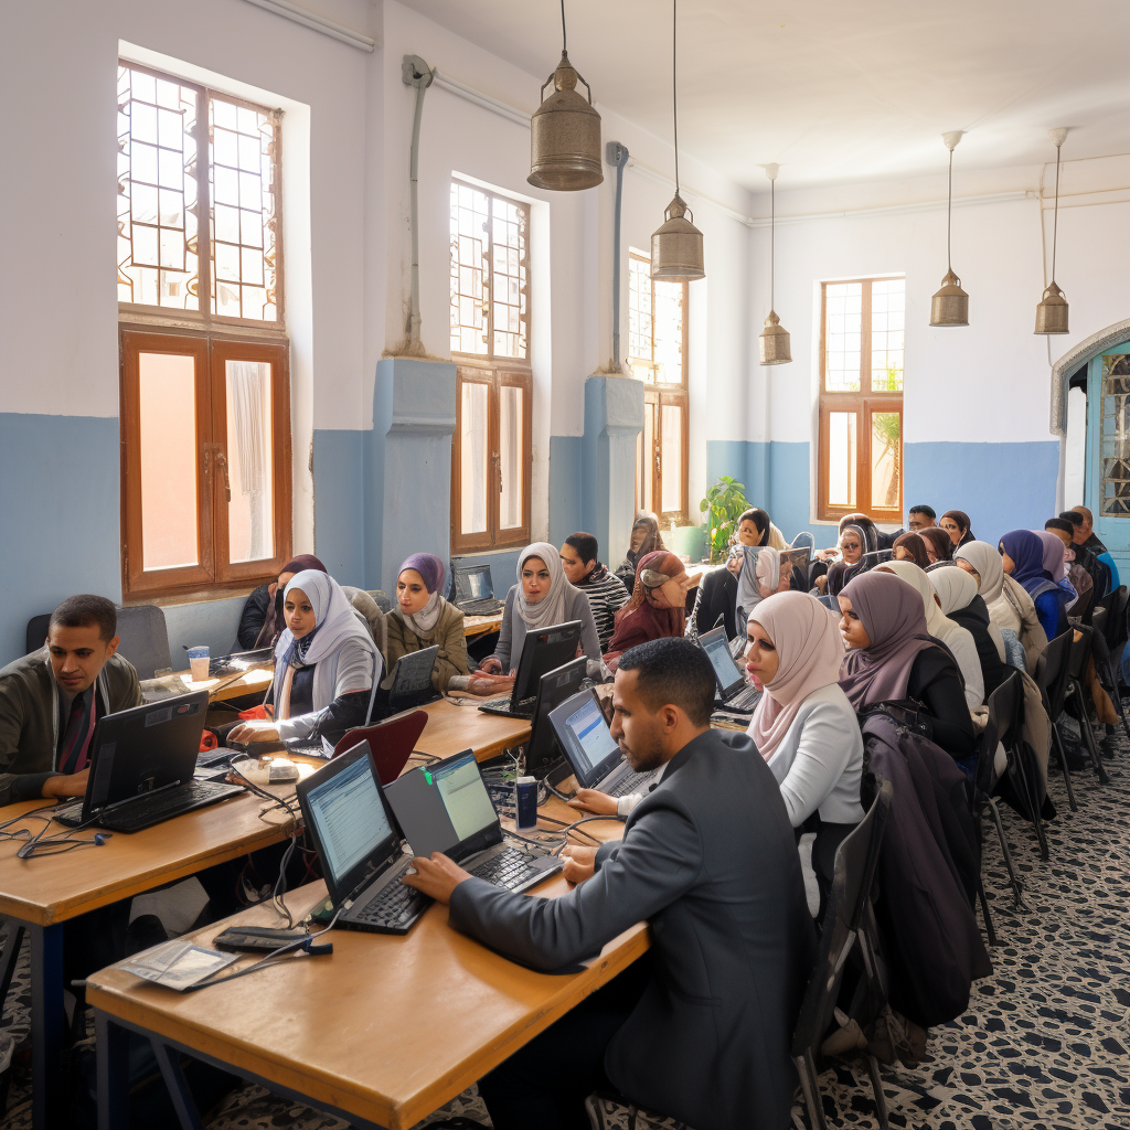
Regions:
<instances>
[{"instance_id":1,"label":"open laptop with pale green screen, just right of the nearest laptop","mask_svg":"<svg viewBox=\"0 0 1130 1130\"><path fill-rule=\"evenodd\" d=\"M562 868L556 855L506 843L470 749L409 770L384 797L415 855L441 851L507 890L525 890Z\"/></svg>"}]
</instances>

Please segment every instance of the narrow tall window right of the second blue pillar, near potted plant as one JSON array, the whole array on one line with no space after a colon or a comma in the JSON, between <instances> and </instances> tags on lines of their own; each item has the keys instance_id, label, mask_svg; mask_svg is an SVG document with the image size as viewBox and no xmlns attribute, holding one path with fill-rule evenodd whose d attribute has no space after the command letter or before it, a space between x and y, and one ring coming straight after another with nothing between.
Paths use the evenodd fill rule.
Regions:
<instances>
[{"instance_id":1,"label":"narrow tall window right of the second blue pillar, near potted plant","mask_svg":"<svg viewBox=\"0 0 1130 1130\"><path fill-rule=\"evenodd\" d=\"M686 282L653 282L651 260L628 255L628 365L644 382L636 506L687 520Z\"/></svg>"}]
</instances>

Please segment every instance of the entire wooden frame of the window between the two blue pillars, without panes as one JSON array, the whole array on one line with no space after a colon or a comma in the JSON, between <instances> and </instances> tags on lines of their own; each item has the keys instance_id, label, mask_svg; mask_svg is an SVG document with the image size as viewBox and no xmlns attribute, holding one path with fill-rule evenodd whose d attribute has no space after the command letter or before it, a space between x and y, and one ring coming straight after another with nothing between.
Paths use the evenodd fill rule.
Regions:
<instances>
[{"instance_id":1,"label":"entire wooden frame of the window between the two blue pillars, without panes","mask_svg":"<svg viewBox=\"0 0 1130 1130\"><path fill-rule=\"evenodd\" d=\"M501 549L521 548L530 541L530 479L532 478L532 437L533 437L533 370L530 365L532 339L532 305L530 301L530 206L524 200L518 200L488 189L481 184L452 177L453 184L466 185L484 193L488 200L502 199L525 211L525 255L521 267L525 269L525 357L497 356L494 351L494 302L487 297L484 303L484 332L487 351L485 354L461 353L453 349L452 360L455 363L455 431L451 441L451 551L453 555L472 553L493 553ZM488 257L489 258L489 257ZM493 294L494 271L492 270L487 295ZM486 384L487 395L487 528L486 530L464 533L462 530L463 483L462 483L462 405L463 383L471 381ZM512 529L499 528L499 507L502 498L502 392L505 386L520 388L522 395L522 523Z\"/></svg>"}]
</instances>

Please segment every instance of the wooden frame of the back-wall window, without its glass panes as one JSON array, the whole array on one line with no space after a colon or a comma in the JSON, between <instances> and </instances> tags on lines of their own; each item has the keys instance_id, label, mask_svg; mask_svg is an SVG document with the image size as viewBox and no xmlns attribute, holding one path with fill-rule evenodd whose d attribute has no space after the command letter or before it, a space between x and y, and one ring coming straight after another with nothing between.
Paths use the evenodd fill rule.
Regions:
<instances>
[{"instance_id":1,"label":"wooden frame of the back-wall window, without its glass panes","mask_svg":"<svg viewBox=\"0 0 1130 1130\"><path fill-rule=\"evenodd\" d=\"M846 514L867 514L876 522L898 523L902 519L903 505L903 445L904 423L903 392L871 389L871 285L873 282L892 282L902 279L899 275L884 275L877 278L833 279L831 285L859 282L862 287L860 310L860 388L851 392L828 392L826 390L827 374L827 315L829 282L820 284L820 391L818 398L818 457L817 457L817 511L820 521L837 522ZM905 389L905 356L903 368L903 388ZM898 428L898 508L875 506L871 499L871 414L897 411ZM833 506L828 503L828 473L831 454L828 450L828 417L832 412L855 414L855 503L854 506Z\"/></svg>"}]
</instances>

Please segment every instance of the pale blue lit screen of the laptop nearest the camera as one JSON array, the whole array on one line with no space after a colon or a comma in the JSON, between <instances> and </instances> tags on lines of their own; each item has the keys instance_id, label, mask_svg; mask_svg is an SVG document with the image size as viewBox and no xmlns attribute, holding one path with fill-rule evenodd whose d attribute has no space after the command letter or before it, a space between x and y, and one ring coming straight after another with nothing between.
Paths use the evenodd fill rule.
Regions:
<instances>
[{"instance_id":1,"label":"pale blue lit screen of the laptop nearest the camera","mask_svg":"<svg viewBox=\"0 0 1130 1130\"><path fill-rule=\"evenodd\" d=\"M321 771L327 773L325 779L305 791L303 803L329 872L330 889L345 894L356 886L348 883L351 872L362 868L379 847L382 855L388 854L391 844L388 849L383 844L395 835L381 802L368 745L362 742L360 748L363 754L342 755Z\"/></svg>"}]
</instances>

